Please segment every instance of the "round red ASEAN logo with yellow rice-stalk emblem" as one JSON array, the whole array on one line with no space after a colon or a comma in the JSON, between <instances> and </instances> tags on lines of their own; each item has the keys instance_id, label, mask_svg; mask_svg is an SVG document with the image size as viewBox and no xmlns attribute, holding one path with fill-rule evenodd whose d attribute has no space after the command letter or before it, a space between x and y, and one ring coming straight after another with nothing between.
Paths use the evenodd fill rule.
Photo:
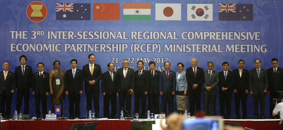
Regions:
<instances>
[{"instance_id":1,"label":"round red ASEAN logo with yellow rice-stalk emblem","mask_svg":"<svg viewBox=\"0 0 283 130\"><path fill-rule=\"evenodd\" d=\"M35 23L42 22L47 16L47 7L40 1L32 1L27 6L27 18Z\"/></svg>"}]
</instances>

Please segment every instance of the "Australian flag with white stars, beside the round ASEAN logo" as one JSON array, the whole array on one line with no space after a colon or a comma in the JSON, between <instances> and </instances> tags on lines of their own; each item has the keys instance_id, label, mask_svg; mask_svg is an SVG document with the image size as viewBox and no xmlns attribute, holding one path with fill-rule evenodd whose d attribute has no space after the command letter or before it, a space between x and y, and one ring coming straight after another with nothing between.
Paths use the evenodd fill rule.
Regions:
<instances>
[{"instance_id":1,"label":"Australian flag with white stars, beside the round ASEAN logo","mask_svg":"<svg viewBox=\"0 0 283 130\"><path fill-rule=\"evenodd\" d=\"M56 3L56 20L91 20L91 4Z\"/></svg>"}]
</instances>

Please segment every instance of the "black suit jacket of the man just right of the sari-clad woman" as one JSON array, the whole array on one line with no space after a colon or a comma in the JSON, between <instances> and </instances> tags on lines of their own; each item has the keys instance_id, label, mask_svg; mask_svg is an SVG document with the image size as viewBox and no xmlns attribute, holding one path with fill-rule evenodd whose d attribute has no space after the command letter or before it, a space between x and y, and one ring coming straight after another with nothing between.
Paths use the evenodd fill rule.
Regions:
<instances>
[{"instance_id":1,"label":"black suit jacket of the man just right of the sari-clad woman","mask_svg":"<svg viewBox=\"0 0 283 130\"><path fill-rule=\"evenodd\" d=\"M93 71L94 73L94 71ZM76 69L75 78L73 77L72 69L66 71L65 76L65 91L72 94L78 94L83 91L83 71Z\"/></svg>"}]
</instances>

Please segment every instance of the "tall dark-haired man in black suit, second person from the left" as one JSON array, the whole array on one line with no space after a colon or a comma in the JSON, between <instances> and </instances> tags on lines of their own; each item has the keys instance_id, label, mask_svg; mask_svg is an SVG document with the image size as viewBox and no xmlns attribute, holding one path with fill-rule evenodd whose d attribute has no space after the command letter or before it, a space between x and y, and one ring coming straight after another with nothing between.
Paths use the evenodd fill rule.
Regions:
<instances>
[{"instance_id":1,"label":"tall dark-haired man in black suit, second person from the left","mask_svg":"<svg viewBox=\"0 0 283 130\"><path fill-rule=\"evenodd\" d=\"M29 92L32 91L32 67L26 65L27 57L25 55L21 55L19 61L21 65L15 68L15 77L17 81L16 109L18 113L21 113L22 99L24 97L24 114L29 114Z\"/></svg>"}]
</instances>

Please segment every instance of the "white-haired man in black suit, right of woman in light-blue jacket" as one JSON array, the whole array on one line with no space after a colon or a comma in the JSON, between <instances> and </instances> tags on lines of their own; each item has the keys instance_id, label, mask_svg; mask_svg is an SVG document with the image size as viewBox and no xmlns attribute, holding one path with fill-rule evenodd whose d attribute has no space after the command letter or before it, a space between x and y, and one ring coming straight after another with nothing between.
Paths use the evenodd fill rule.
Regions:
<instances>
[{"instance_id":1,"label":"white-haired man in black suit, right of woman in light-blue jacket","mask_svg":"<svg viewBox=\"0 0 283 130\"><path fill-rule=\"evenodd\" d=\"M200 111L201 85L204 80L203 68L197 67L198 59L191 59L192 67L186 69L186 78L188 83L190 115L195 115L196 111Z\"/></svg>"}]
</instances>

